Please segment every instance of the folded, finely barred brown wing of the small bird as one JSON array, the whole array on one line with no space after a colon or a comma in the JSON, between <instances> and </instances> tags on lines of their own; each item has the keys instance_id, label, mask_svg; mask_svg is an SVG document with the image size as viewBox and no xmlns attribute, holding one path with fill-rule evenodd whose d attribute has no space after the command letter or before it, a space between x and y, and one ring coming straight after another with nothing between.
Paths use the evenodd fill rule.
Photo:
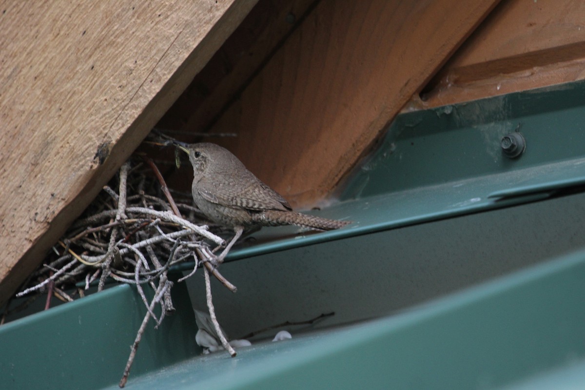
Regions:
<instances>
[{"instance_id":1,"label":"folded, finely barred brown wing of the small bird","mask_svg":"<svg viewBox=\"0 0 585 390\"><path fill-rule=\"evenodd\" d=\"M249 210L291 210L291 206L278 192L255 176L246 178L246 187L236 182L199 182L197 191L209 202L222 206ZM241 183L241 182L240 182Z\"/></svg>"}]
</instances>

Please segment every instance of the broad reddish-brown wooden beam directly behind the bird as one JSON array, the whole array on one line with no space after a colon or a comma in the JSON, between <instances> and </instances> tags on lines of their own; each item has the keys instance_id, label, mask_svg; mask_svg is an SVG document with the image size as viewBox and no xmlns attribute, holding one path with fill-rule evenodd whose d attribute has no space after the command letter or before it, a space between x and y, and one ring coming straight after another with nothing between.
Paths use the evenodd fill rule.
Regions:
<instances>
[{"instance_id":1,"label":"broad reddish-brown wooden beam directly behind the bird","mask_svg":"<svg viewBox=\"0 0 585 390\"><path fill-rule=\"evenodd\" d=\"M495 4L322 0L213 131L238 133L221 143L294 205L314 205Z\"/></svg>"}]
</instances>

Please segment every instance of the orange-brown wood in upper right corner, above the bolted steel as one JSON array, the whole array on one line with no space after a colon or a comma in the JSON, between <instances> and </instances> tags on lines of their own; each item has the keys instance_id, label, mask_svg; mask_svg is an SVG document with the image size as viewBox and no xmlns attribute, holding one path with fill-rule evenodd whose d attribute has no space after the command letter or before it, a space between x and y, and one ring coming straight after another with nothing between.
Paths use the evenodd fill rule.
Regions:
<instances>
[{"instance_id":1,"label":"orange-brown wood in upper right corner, above the bolted steel","mask_svg":"<svg viewBox=\"0 0 585 390\"><path fill-rule=\"evenodd\" d=\"M425 87L421 108L585 78L584 18L579 0L501 2Z\"/></svg>"}]
</instances>

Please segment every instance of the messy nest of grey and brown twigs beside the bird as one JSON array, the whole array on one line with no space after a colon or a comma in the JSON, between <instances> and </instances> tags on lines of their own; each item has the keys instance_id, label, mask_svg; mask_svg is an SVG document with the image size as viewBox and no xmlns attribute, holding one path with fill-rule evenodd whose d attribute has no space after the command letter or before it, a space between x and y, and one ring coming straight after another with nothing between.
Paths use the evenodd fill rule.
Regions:
<instances>
[{"instance_id":1,"label":"messy nest of grey and brown twigs beside the bird","mask_svg":"<svg viewBox=\"0 0 585 390\"><path fill-rule=\"evenodd\" d=\"M158 327L163 318L175 310L170 294L173 282L167 276L171 267L192 263L192 272L179 279L182 281L194 274L198 265L205 265L212 317L215 315L209 273L230 290L236 290L214 267L213 252L225 246L225 241L202 224L202 215L192 205L191 194L175 195L178 202L174 201L152 160L144 157L129 160L16 294L17 297L47 294L48 308L52 295L73 301L75 296L84 296L84 291L96 283L98 291L112 281L136 285L147 314L132 346L121 387L126 383L150 317ZM144 288L153 289L152 300L146 298ZM161 307L160 316L154 313L156 305ZM7 306L4 315L9 311ZM219 324L217 327L219 329ZM235 356L229 344L225 347Z\"/></svg>"}]
</instances>

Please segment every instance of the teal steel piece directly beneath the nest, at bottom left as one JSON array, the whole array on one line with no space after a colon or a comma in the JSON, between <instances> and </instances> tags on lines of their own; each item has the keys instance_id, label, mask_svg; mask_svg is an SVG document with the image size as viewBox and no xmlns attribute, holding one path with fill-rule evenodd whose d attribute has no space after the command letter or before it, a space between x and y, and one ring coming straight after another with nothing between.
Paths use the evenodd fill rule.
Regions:
<instances>
[{"instance_id":1,"label":"teal steel piece directly beneath the nest, at bottom left","mask_svg":"<svg viewBox=\"0 0 585 390\"><path fill-rule=\"evenodd\" d=\"M201 353L184 284L173 288L173 300L180 315L158 330L151 320L130 378ZM145 314L136 289L121 285L0 326L0 388L117 386Z\"/></svg>"}]
</instances>

